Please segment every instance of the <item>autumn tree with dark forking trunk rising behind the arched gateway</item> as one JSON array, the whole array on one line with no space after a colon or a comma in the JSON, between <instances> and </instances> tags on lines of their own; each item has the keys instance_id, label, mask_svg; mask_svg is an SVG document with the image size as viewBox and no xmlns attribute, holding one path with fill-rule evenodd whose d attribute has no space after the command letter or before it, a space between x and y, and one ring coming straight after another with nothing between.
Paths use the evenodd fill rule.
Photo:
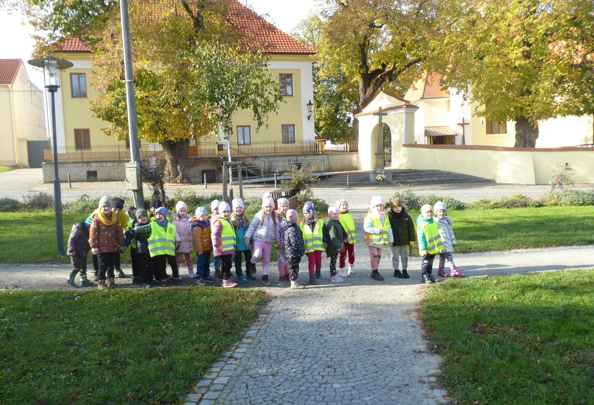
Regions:
<instances>
[{"instance_id":1,"label":"autumn tree with dark forking trunk rising behind the arched gateway","mask_svg":"<svg viewBox=\"0 0 594 405\"><path fill-rule=\"evenodd\" d=\"M356 89L353 113L382 89L404 94L440 37L440 21L437 0L330 0L315 56L318 80L332 86L343 75L344 97Z\"/></svg>"}]
</instances>

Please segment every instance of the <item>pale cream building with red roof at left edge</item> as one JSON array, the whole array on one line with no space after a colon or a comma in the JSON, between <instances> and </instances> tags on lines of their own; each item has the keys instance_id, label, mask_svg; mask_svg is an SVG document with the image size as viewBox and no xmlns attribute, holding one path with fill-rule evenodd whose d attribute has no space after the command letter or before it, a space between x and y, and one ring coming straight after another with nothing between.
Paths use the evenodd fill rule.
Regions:
<instances>
[{"instance_id":1,"label":"pale cream building with red roof at left edge","mask_svg":"<svg viewBox=\"0 0 594 405\"><path fill-rule=\"evenodd\" d=\"M41 167L42 148L49 146L43 91L22 59L0 59L0 142L2 166Z\"/></svg>"}]
</instances>

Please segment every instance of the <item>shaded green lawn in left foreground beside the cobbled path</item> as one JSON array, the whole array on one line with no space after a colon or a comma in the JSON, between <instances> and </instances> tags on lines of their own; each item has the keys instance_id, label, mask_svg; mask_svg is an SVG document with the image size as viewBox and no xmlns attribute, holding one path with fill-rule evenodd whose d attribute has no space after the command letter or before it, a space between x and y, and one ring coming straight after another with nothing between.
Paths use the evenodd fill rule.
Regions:
<instances>
[{"instance_id":1,"label":"shaded green lawn in left foreground beside the cobbled path","mask_svg":"<svg viewBox=\"0 0 594 405\"><path fill-rule=\"evenodd\" d=\"M0 403L181 403L266 300L214 287L0 293Z\"/></svg>"}]
</instances>

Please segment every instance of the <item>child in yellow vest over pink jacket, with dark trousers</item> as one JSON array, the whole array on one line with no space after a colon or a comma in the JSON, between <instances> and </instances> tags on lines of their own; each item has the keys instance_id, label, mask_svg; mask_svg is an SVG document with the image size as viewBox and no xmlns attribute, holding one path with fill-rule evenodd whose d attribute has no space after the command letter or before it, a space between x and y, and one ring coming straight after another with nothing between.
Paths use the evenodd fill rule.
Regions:
<instances>
[{"instance_id":1,"label":"child in yellow vest over pink jacket, with dark trousers","mask_svg":"<svg viewBox=\"0 0 594 405\"><path fill-rule=\"evenodd\" d=\"M223 273L223 287L236 287L231 281L232 256L235 255L235 228L230 221L231 207L223 201L219 204L220 215L214 215L211 222L213 255L219 257Z\"/></svg>"}]
</instances>

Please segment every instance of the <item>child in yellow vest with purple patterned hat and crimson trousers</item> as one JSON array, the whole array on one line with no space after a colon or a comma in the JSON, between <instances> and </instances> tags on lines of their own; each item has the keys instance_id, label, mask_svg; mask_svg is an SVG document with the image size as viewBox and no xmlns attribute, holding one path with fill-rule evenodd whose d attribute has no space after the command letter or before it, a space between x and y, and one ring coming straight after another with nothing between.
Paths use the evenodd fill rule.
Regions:
<instances>
[{"instance_id":1,"label":"child in yellow vest with purple patterned hat and crimson trousers","mask_svg":"<svg viewBox=\"0 0 594 405\"><path fill-rule=\"evenodd\" d=\"M303 234L305 255L307 256L309 270L309 284L318 284L316 279L321 277L322 252L326 250L326 223L318 219L315 214L314 203L306 201L303 205L303 220L299 223ZM315 271L314 271L315 268Z\"/></svg>"}]
</instances>

